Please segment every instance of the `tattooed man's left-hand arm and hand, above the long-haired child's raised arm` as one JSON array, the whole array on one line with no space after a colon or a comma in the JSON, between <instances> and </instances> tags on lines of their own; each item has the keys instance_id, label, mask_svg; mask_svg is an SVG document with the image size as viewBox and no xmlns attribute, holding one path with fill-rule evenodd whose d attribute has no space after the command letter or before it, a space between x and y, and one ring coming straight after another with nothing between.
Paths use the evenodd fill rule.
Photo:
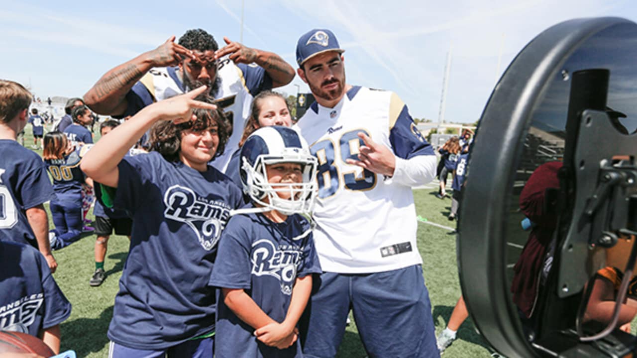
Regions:
<instances>
[{"instance_id":1,"label":"tattooed man's left-hand arm and hand, above the long-haired child's raised arm","mask_svg":"<svg viewBox=\"0 0 637 358\"><path fill-rule=\"evenodd\" d=\"M122 115L128 106L126 94L143 75L154 67L175 66L185 56L193 55L190 50L175 43L175 36L171 36L155 50L145 52L104 74L86 92L84 102L101 115Z\"/></svg>"}]
</instances>

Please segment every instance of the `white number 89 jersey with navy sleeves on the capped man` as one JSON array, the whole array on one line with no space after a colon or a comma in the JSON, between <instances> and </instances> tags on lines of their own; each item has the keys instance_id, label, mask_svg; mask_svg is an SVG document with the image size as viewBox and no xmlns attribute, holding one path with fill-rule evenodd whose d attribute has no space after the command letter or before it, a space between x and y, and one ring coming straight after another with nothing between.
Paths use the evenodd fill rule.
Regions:
<instances>
[{"instance_id":1,"label":"white number 89 jersey with navy sleeves on the capped man","mask_svg":"<svg viewBox=\"0 0 637 358\"><path fill-rule=\"evenodd\" d=\"M314 238L322 269L371 273L422 263L412 188L345 162L357 160L361 132L403 159L434 155L403 101L353 87L334 108L312 104L297 129L318 159Z\"/></svg>"}]
</instances>

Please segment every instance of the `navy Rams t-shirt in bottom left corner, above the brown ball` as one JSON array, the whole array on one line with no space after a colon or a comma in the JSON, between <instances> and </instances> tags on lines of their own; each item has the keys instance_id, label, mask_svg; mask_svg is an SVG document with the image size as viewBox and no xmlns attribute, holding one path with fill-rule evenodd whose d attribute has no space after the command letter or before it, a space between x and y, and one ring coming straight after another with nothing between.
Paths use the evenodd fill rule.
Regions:
<instances>
[{"instance_id":1,"label":"navy Rams t-shirt in bottom left corner, above the brown ball","mask_svg":"<svg viewBox=\"0 0 637 358\"><path fill-rule=\"evenodd\" d=\"M0 330L38 336L41 329L61 324L69 315L71 304L39 251L0 241Z\"/></svg>"}]
</instances>

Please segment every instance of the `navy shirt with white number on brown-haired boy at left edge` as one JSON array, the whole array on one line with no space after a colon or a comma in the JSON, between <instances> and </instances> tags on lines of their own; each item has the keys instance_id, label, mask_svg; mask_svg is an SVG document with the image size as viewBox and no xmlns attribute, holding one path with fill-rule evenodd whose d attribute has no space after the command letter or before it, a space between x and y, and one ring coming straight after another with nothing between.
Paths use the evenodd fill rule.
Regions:
<instances>
[{"instance_id":1,"label":"navy shirt with white number on brown-haired boy at left edge","mask_svg":"<svg viewBox=\"0 0 637 358\"><path fill-rule=\"evenodd\" d=\"M38 154L14 140L0 140L0 240L37 247L25 210L54 199Z\"/></svg>"}]
</instances>

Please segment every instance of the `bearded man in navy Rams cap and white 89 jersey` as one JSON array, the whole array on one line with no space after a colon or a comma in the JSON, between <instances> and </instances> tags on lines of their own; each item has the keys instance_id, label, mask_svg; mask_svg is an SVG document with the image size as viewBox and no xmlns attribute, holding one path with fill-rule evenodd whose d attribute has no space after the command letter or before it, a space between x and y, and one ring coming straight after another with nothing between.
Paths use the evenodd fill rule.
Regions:
<instances>
[{"instance_id":1,"label":"bearded man in navy Rams cap and white 89 jersey","mask_svg":"<svg viewBox=\"0 0 637 358\"><path fill-rule=\"evenodd\" d=\"M316 102L297 124L318 159L314 231L324 273L301 326L306 357L334 357L350 309L370 357L438 357L416 247L412 187L436 174L433 148L394 93L345 82L327 29L296 47Z\"/></svg>"}]
</instances>

